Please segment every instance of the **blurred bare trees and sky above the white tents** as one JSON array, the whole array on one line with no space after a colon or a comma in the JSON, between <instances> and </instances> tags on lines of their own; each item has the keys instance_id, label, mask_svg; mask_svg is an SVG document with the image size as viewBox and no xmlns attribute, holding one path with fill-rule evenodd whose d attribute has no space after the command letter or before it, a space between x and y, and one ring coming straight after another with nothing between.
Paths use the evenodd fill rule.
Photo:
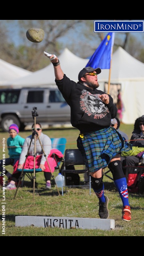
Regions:
<instances>
[{"instance_id":1,"label":"blurred bare trees and sky above the white tents","mask_svg":"<svg viewBox=\"0 0 144 256\"><path fill-rule=\"evenodd\" d=\"M26 38L26 31L30 28L42 28L44 40L40 43L30 42ZM93 20L6 20L1 21L0 32L1 58L30 71L40 70L49 64L44 51L58 56L67 47L77 56L88 58L106 36L105 33L94 33ZM18 43L14 40L15 32ZM115 34L113 52L121 46L134 54L135 58L144 60L142 45L136 45L136 39L133 40L130 33L120 34L119 37L118 33Z\"/></svg>"}]
</instances>

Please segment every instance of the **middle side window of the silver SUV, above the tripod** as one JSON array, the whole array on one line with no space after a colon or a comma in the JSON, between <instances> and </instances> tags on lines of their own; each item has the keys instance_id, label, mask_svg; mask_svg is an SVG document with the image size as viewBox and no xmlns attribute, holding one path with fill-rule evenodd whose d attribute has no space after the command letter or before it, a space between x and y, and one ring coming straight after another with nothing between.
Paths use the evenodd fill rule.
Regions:
<instances>
[{"instance_id":1,"label":"middle side window of the silver SUV, above the tripod","mask_svg":"<svg viewBox=\"0 0 144 256\"><path fill-rule=\"evenodd\" d=\"M29 91L27 103L42 103L44 91Z\"/></svg>"}]
</instances>

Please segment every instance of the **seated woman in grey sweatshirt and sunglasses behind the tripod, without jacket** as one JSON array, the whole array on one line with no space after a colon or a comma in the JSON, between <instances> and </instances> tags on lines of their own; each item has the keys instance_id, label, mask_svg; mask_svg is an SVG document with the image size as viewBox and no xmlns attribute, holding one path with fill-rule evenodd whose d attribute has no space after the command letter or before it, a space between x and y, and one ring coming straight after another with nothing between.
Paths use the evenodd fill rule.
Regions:
<instances>
[{"instance_id":1,"label":"seated woman in grey sweatshirt and sunglasses behind the tripod, without jacket","mask_svg":"<svg viewBox=\"0 0 144 256\"><path fill-rule=\"evenodd\" d=\"M46 162L46 157L44 156L44 153L46 154L46 156L48 156L50 154L50 150L52 149L52 142L51 139L46 135L42 133L42 127L40 123L36 123L36 132L38 133L38 136L36 134L36 164L38 164L40 162L40 165L38 168L41 168L42 171L44 172L44 177L46 180L46 189L50 189L51 188L51 184L50 184L50 180L51 180L51 172L46 171L46 166L45 166L45 162ZM32 132L34 132L34 124L32 125ZM38 137L40 139L40 141L38 140ZM31 142L32 140L32 142ZM31 145L30 145L31 142ZM44 153L42 151L42 147L40 145L40 142L42 144L42 147L44 149ZM30 146L30 148L29 148ZM28 152L29 149L29 152ZM24 145L22 148L22 152L20 154L20 159L18 162L18 166L16 166L15 169L22 169L24 162L26 160L26 155L28 153L28 157L29 156L34 156L34 137L32 138L32 135L28 136L25 141L24 141ZM25 163L25 167L28 169L31 169L31 166L28 166L27 162ZM16 182L18 181L18 178L20 177L20 172L13 172L12 174L12 178L10 183L6 186L6 189L16 189Z\"/></svg>"}]
</instances>

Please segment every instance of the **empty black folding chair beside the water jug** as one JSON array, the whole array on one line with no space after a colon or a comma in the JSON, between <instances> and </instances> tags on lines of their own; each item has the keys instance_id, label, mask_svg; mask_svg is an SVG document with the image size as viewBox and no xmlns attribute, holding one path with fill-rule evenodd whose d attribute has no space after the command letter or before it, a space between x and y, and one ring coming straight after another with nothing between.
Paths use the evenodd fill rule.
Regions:
<instances>
[{"instance_id":1,"label":"empty black folding chair beside the water jug","mask_svg":"<svg viewBox=\"0 0 144 256\"><path fill-rule=\"evenodd\" d=\"M83 165L82 169L80 168ZM74 167L74 169L73 169ZM74 173L74 174L81 174L88 172L88 169L85 167L84 158L79 149L66 149L64 154L64 162L61 167L61 174L64 174L65 180L65 189L67 187L71 187L71 185L66 185L66 173ZM64 195L64 190L62 185L62 196ZM87 185L72 185L72 187L79 187L79 186L87 186ZM90 176L90 194L91 194L91 176Z\"/></svg>"}]
</instances>

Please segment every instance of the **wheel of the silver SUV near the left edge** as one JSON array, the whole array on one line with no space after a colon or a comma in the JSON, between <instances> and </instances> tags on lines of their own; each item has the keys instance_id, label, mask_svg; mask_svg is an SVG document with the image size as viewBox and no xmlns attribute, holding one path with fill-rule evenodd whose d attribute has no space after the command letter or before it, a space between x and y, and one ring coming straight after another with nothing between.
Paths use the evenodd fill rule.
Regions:
<instances>
[{"instance_id":1,"label":"wheel of the silver SUV near the left edge","mask_svg":"<svg viewBox=\"0 0 144 256\"><path fill-rule=\"evenodd\" d=\"M11 124L17 124L18 127L20 127L20 121L18 118L14 115L6 115L2 118L2 130L4 132L8 132L8 128L10 127Z\"/></svg>"}]
</instances>

